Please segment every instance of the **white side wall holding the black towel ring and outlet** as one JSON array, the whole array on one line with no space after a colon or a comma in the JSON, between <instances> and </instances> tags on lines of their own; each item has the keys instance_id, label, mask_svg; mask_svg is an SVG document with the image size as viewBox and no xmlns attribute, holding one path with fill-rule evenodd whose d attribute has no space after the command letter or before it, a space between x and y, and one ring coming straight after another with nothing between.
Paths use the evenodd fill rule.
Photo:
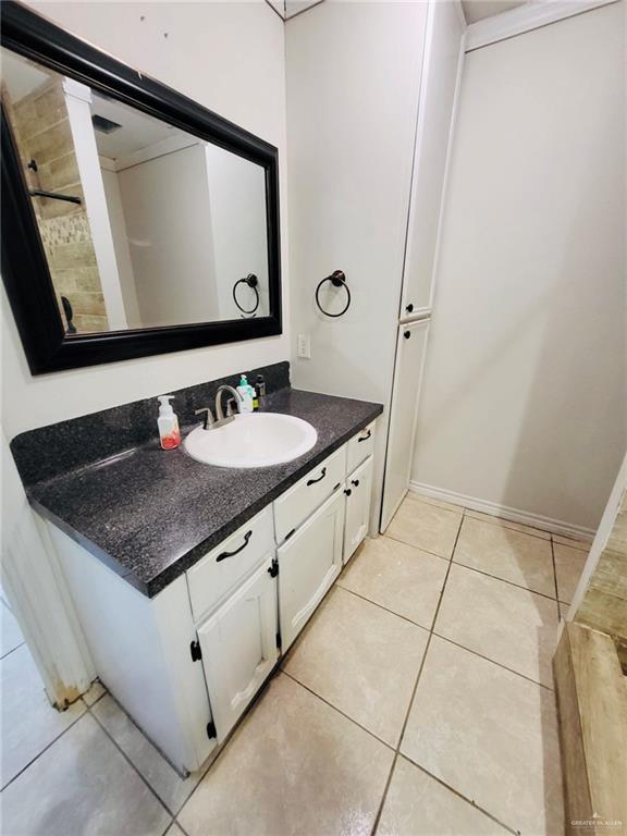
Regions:
<instances>
[{"instance_id":1,"label":"white side wall holding the black towel ring and outlet","mask_svg":"<svg viewBox=\"0 0 627 836\"><path fill-rule=\"evenodd\" d=\"M416 132L426 3L324 2L286 33L295 385L388 407ZM315 306L344 270L349 311ZM309 334L311 359L296 358ZM388 413L378 431L379 507Z\"/></svg>"}]
</instances>

